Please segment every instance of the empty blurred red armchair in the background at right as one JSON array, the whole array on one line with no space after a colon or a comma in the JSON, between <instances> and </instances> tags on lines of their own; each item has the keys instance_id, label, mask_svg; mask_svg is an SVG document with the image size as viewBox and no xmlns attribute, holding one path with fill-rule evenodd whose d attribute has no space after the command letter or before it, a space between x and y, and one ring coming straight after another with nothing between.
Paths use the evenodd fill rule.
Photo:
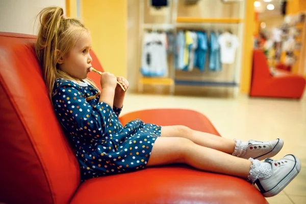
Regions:
<instances>
[{"instance_id":1,"label":"empty blurred red armchair in the background at right","mask_svg":"<svg viewBox=\"0 0 306 204\"><path fill-rule=\"evenodd\" d=\"M297 98L303 95L305 78L283 72L272 76L266 57L261 50L253 51L251 97Z\"/></svg>"}]
</instances>

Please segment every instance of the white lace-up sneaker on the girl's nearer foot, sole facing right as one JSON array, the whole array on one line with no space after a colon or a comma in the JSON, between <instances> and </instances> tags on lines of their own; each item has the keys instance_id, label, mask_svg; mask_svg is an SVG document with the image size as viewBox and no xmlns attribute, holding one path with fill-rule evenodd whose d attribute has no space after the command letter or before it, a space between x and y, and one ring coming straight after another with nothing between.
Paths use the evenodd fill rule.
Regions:
<instances>
[{"instance_id":1,"label":"white lace-up sneaker on the girl's nearer foot, sole facing right","mask_svg":"<svg viewBox=\"0 0 306 204\"><path fill-rule=\"evenodd\" d=\"M284 156L281 160L266 158L264 162L272 165L272 175L257 179L255 184L265 197L281 192L301 170L299 159L292 154Z\"/></svg>"}]
</instances>

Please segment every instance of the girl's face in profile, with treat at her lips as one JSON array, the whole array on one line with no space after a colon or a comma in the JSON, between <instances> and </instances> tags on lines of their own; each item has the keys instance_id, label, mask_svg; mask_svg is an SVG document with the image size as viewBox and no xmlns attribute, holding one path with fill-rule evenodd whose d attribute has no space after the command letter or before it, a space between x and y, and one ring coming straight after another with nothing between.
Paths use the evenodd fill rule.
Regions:
<instances>
[{"instance_id":1,"label":"girl's face in profile, with treat at her lips","mask_svg":"<svg viewBox=\"0 0 306 204\"><path fill-rule=\"evenodd\" d=\"M59 60L60 70L77 79L86 79L91 67L91 36L84 32L68 54Z\"/></svg>"}]
</instances>

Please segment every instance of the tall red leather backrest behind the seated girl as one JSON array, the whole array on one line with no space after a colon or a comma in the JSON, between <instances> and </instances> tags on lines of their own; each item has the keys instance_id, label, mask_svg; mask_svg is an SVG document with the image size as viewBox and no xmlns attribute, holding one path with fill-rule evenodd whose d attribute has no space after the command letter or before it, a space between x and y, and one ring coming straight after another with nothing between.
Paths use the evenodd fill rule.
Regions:
<instances>
[{"instance_id":1,"label":"tall red leather backrest behind the seated girl","mask_svg":"<svg viewBox=\"0 0 306 204\"><path fill-rule=\"evenodd\" d=\"M68 203L80 170L54 114L32 35L0 32L0 203ZM92 53L93 66L103 71ZM99 86L99 76L90 73Z\"/></svg>"}]
</instances>

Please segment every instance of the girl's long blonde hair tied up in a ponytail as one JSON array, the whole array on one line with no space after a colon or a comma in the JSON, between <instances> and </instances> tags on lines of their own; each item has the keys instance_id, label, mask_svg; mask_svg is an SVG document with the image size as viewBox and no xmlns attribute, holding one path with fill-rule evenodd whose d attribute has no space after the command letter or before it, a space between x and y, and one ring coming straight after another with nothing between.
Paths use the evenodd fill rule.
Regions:
<instances>
[{"instance_id":1,"label":"girl's long blonde hair tied up in a ponytail","mask_svg":"<svg viewBox=\"0 0 306 204\"><path fill-rule=\"evenodd\" d=\"M63 14L64 11L60 7L47 7L37 15L40 28L35 43L35 51L42 67L50 99L56 79L79 80L61 71L57 62L69 53L84 32L89 34L89 30L79 19L66 18ZM90 79L86 78L85 80L96 87Z\"/></svg>"}]
</instances>

